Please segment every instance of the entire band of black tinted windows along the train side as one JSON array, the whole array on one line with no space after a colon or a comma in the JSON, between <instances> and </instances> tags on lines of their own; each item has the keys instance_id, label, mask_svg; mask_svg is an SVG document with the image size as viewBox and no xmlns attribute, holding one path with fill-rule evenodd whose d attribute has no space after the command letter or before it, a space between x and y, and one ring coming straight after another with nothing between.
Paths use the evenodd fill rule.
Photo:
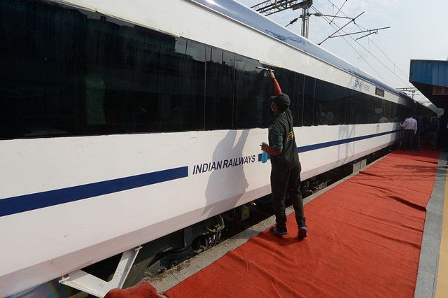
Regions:
<instances>
[{"instance_id":1,"label":"entire band of black tinted windows along the train side","mask_svg":"<svg viewBox=\"0 0 448 298\"><path fill-rule=\"evenodd\" d=\"M14 32L14 34L11 34ZM46 1L0 2L0 139L266 127L255 59ZM274 69L295 126L393 119L405 108ZM381 106L381 108L380 108Z\"/></svg>"}]
</instances>

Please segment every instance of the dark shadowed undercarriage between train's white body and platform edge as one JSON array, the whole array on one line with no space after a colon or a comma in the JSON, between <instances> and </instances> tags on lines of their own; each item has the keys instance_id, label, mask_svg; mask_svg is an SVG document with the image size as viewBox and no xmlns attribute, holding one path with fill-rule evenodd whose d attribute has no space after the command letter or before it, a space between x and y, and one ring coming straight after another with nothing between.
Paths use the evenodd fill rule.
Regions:
<instances>
[{"instance_id":1,"label":"dark shadowed undercarriage between train's white body and platform edge","mask_svg":"<svg viewBox=\"0 0 448 298\"><path fill-rule=\"evenodd\" d=\"M241 136L242 137L242 136ZM362 157L355 162L344 164L336 169L332 169L309 180L302 181L301 191L303 197L309 197L325 187L336 183L346 176L356 173L362 169L360 164L366 166L375 160L384 157L389 152L398 149L399 143L388 148L384 148L370 155ZM286 206L290 206L290 201L286 199ZM181 229L172 234L161 237L142 245L139 255L132 266L130 274L127 276L123 288L136 285L145 278L153 278L178 264L199 255L219 243L230 239L232 236L243 232L245 229L256 225L273 215L272 199L270 194L260 197L255 201L233 208L230 211L216 215L212 218L199 222L185 229ZM92 264L83 268L83 271L101 278L104 281L111 281L113 272L117 268L121 254L109 257L106 260ZM112 274L111 274L112 273ZM69 297L69 298L92 298L85 292L80 292L61 285L57 280L40 285L34 291L34 295L25 295L21 298L37 297Z\"/></svg>"}]
</instances>

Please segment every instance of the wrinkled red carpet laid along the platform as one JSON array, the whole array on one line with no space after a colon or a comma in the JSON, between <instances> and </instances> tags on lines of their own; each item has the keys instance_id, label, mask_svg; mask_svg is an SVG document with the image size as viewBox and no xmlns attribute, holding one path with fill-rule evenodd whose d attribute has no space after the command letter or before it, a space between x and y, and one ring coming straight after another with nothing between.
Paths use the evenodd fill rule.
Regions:
<instances>
[{"instance_id":1,"label":"wrinkled red carpet laid along the platform","mask_svg":"<svg viewBox=\"0 0 448 298\"><path fill-rule=\"evenodd\" d=\"M305 205L309 234L266 230L164 294L187 297L414 297L440 152L395 151Z\"/></svg>"}]
</instances>

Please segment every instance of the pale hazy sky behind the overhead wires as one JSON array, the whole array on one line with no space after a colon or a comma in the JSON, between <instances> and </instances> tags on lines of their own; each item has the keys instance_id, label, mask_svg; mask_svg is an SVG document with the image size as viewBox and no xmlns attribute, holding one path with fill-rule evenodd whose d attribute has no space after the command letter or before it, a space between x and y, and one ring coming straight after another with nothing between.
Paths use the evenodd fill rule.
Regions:
<instances>
[{"instance_id":1,"label":"pale hazy sky behind the overhead wires","mask_svg":"<svg viewBox=\"0 0 448 298\"><path fill-rule=\"evenodd\" d=\"M265 0L237 0L248 7ZM272 0L274 1L274 0ZM297 1L297 3L302 0ZM309 16L308 39L321 43L321 47L342 59L358 66L359 69L384 81L395 88L414 88L409 83L411 59L448 59L448 10L447 0L314 0L309 13L339 17ZM362 15L360 15L363 13ZM300 17L302 9L282 10L268 15L269 20L283 27L295 17ZM359 17L357 17L360 15ZM348 17L348 18L340 18ZM355 22L350 22L353 18ZM350 22L350 23L349 23ZM331 23L331 24L330 24ZM346 25L349 23L348 25ZM346 25L346 27L344 27ZM335 31L344 27L335 34ZM376 34L351 34L359 31L378 30ZM289 24L288 29L300 35L302 19ZM333 35L335 34L335 35ZM365 36L365 37L363 37ZM363 37L363 38L360 38ZM326 39L328 38L328 39ZM356 41L357 38L358 41ZM326 39L326 40L325 40ZM409 93L412 96L412 93ZM421 92L414 92L414 99L428 104Z\"/></svg>"}]
</instances>

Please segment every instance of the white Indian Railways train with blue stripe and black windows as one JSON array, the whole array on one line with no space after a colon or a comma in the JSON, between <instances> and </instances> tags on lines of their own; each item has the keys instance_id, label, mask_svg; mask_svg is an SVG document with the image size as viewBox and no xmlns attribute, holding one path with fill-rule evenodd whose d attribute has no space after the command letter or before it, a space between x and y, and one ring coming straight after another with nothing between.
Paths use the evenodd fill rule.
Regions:
<instances>
[{"instance_id":1,"label":"white Indian Railways train with blue stripe and black windows","mask_svg":"<svg viewBox=\"0 0 448 298\"><path fill-rule=\"evenodd\" d=\"M237 1L3 0L0 24L0 297L104 297L214 246L270 193L263 68L302 181L431 112Z\"/></svg>"}]
</instances>

